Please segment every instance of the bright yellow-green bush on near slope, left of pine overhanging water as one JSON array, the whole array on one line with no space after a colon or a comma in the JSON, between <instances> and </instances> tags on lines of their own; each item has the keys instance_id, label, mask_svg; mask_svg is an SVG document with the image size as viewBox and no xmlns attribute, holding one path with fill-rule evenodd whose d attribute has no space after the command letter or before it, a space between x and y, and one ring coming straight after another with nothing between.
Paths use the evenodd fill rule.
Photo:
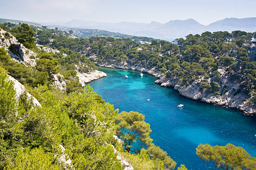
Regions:
<instances>
[{"instance_id":1,"label":"bright yellow-green bush on near slope, left of pine overhanging water","mask_svg":"<svg viewBox=\"0 0 256 170\"><path fill-rule=\"evenodd\" d=\"M90 85L85 87L82 94L70 93L64 100L63 110L67 111L69 117L77 120L85 137L97 137L99 142L112 138L114 127L111 123L114 122L117 110L95 94Z\"/></svg>"}]
</instances>

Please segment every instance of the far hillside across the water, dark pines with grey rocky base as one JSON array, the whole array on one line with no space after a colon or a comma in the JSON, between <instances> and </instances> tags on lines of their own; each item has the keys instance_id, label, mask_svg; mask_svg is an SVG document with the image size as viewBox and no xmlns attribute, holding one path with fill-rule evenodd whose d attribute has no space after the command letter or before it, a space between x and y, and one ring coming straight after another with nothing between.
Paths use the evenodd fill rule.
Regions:
<instances>
[{"instance_id":1,"label":"far hillside across the water, dark pines with grey rocky base","mask_svg":"<svg viewBox=\"0 0 256 170\"><path fill-rule=\"evenodd\" d=\"M144 70L186 97L256 114L256 32L203 32L141 45L129 38L74 39L33 29L41 45L79 52L101 66Z\"/></svg>"}]
</instances>

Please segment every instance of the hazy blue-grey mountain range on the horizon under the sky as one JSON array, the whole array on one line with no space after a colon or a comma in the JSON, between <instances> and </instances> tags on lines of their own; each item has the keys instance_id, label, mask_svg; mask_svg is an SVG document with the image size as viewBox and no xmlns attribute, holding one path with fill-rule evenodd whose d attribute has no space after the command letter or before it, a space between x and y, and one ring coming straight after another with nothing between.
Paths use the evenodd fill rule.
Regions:
<instances>
[{"instance_id":1,"label":"hazy blue-grey mountain range on the horizon under the sky","mask_svg":"<svg viewBox=\"0 0 256 170\"><path fill-rule=\"evenodd\" d=\"M33 25L38 25L38 23L19 21L19 20L8 20L0 19L0 23L3 22L24 22ZM167 23L158 23L152 21L151 23L131 23L131 22L120 22L120 23L99 23L99 22L87 22L83 20L71 20L67 23L61 23L61 21L56 23L40 23L41 25L46 25L50 27L67 27L67 28L83 28L87 30L79 30L77 35L79 37L90 37L90 33L97 36L113 36L114 37L128 37L127 35L143 36L143 37L153 37L156 39L172 41L179 37L185 37L189 34L201 34L205 31L215 32L215 31L228 31L232 32L234 30L242 30L246 32L256 31L256 17L255 18L225 18L223 20L218 20L209 25L202 25L194 19L187 20L170 20ZM89 30L93 29L93 30ZM78 30L78 29L76 29ZM102 30L109 32L104 32ZM82 32L82 33L81 33ZM115 34L115 32L118 32ZM119 34L120 33L120 34ZM102 34L102 35L101 35ZM124 35L126 34L126 35Z\"/></svg>"}]
</instances>

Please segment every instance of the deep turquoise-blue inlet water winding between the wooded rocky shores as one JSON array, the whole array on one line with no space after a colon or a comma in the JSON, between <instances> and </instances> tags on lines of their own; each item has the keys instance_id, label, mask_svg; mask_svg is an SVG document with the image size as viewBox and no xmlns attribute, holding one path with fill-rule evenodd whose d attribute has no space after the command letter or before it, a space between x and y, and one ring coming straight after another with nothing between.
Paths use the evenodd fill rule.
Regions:
<instances>
[{"instance_id":1,"label":"deep turquoise-blue inlet water winding between the wooded rocky shores","mask_svg":"<svg viewBox=\"0 0 256 170\"><path fill-rule=\"evenodd\" d=\"M188 170L216 169L196 155L197 145L243 147L256 157L256 117L221 106L187 99L173 88L154 83L156 77L138 71L99 67L107 77L90 82L102 98L121 111L138 111L151 125L153 143ZM128 78L125 78L128 75ZM150 99L150 101L147 101ZM184 104L178 108L177 105Z\"/></svg>"}]
</instances>

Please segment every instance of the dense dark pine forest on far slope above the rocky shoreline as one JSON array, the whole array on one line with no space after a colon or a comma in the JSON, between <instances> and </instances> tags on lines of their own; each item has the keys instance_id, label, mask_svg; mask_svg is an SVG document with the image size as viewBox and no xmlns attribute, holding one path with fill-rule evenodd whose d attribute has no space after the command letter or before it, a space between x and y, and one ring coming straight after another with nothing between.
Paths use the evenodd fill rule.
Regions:
<instances>
[{"instance_id":1,"label":"dense dark pine forest on far slope above the rocky shoreline","mask_svg":"<svg viewBox=\"0 0 256 170\"><path fill-rule=\"evenodd\" d=\"M52 34L51 38L53 37ZM46 35L38 35L38 38ZM48 40L50 37L48 38ZM256 32L233 31L203 32L201 35L187 35L174 43L153 40L151 44L139 44L131 39L113 37L90 37L71 39L65 36L46 43L52 47L60 45L84 54L97 56L97 62L141 64L142 67L156 68L177 84L188 86L201 79L202 87L209 93L225 94L220 91L220 72L228 72L234 81L240 82L240 90L255 102L256 61L248 57L251 45L255 43ZM210 79L213 77L212 79ZM209 82L210 81L210 82ZM236 93L236 94L237 94Z\"/></svg>"}]
</instances>

